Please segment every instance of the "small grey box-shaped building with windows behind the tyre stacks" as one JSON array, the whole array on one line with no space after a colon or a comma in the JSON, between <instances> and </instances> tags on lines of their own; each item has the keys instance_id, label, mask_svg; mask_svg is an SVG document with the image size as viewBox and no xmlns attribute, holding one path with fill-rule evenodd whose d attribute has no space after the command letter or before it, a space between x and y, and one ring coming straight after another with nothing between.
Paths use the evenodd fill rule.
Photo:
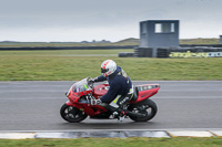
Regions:
<instances>
[{"instance_id":1,"label":"small grey box-shaped building with windows behind the tyre stacks","mask_svg":"<svg viewBox=\"0 0 222 147\"><path fill-rule=\"evenodd\" d=\"M157 48L179 46L179 20L148 20L140 22L140 46L152 48L152 56L157 56Z\"/></svg>"}]
</instances>

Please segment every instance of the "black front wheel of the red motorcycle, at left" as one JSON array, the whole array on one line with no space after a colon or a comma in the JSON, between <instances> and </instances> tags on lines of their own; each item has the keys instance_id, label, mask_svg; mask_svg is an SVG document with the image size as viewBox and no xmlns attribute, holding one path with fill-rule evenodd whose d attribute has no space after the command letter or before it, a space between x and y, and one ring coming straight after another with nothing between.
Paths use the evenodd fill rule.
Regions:
<instances>
[{"instance_id":1,"label":"black front wheel of the red motorcycle, at left","mask_svg":"<svg viewBox=\"0 0 222 147\"><path fill-rule=\"evenodd\" d=\"M87 114L84 112L75 108L74 106L68 106L67 104L63 104L60 108L60 115L61 117L69 122L69 123L79 123L87 118Z\"/></svg>"}]
</instances>

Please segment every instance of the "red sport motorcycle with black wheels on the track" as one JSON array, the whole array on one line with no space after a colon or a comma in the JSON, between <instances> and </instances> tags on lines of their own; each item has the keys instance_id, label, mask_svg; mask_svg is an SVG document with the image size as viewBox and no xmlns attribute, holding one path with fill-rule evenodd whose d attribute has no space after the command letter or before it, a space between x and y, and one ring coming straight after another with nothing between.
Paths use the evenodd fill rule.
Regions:
<instances>
[{"instance_id":1,"label":"red sport motorcycle with black wheels on the track","mask_svg":"<svg viewBox=\"0 0 222 147\"><path fill-rule=\"evenodd\" d=\"M90 105L90 97L100 98L109 90L109 84L94 86L89 82L90 77L74 83L68 93L69 101L60 109L61 117L70 123L79 123L88 116L95 119L118 118L113 112L101 105ZM152 119L157 112L157 104L150 99L160 90L159 84L144 84L134 86L133 97L128 102L124 109L124 117L130 117L134 122L148 122ZM113 101L114 102L114 101Z\"/></svg>"}]
</instances>

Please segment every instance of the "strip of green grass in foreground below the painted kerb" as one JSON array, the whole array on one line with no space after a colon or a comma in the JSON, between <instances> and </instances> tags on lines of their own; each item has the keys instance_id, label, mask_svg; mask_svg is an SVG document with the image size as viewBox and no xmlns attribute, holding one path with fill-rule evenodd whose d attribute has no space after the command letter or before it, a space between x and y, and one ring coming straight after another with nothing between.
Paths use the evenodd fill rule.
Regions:
<instances>
[{"instance_id":1,"label":"strip of green grass in foreground below the painted kerb","mask_svg":"<svg viewBox=\"0 0 222 147\"><path fill-rule=\"evenodd\" d=\"M221 147L221 137L211 138L78 138L0 139L0 147Z\"/></svg>"}]
</instances>

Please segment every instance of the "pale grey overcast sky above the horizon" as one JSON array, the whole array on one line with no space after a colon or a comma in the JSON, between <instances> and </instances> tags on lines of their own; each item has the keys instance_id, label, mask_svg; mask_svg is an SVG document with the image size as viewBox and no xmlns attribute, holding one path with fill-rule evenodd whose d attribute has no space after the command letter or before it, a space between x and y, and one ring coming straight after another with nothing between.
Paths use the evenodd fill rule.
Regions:
<instances>
[{"instance_id":1,"label":"pale grey overcast sky above the horizon","mask_svg":"<svg viewBox=\"0 0 222 147\"><path fill-rule=\"evenodd\" d=\"M222 0L0 0L0 41L139 39L139 22L180 20L180 38L219 38Z\"/></svg>"}]
</instances>

